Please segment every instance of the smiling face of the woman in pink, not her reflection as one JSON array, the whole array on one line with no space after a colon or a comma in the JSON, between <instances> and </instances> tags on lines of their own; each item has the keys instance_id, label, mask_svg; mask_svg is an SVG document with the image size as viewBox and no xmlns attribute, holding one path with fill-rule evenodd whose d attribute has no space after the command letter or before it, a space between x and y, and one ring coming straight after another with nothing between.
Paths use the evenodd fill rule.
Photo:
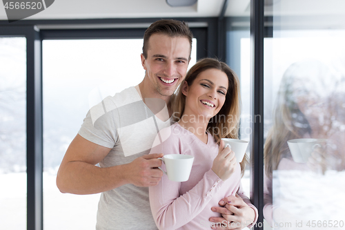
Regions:
<instances>
[{"instance_id":1,"label":"smiling face of the woman in pink, not her reflection","mask_svg":"<svg viewBox=\"0 0 345 230\"><path fill-rule=\"evenodd\" d=\"M201 72L191 86L184 83L186 95L184 114L197 115L198 119L210 119L224 105L228 90L228 76L215 68Z\"/></svg>"}]
</instances>

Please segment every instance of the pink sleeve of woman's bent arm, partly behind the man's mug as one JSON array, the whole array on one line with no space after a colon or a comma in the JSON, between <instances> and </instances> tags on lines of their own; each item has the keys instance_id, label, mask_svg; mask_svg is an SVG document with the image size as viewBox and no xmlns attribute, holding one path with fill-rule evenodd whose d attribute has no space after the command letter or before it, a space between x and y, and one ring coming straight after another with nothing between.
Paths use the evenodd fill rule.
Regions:
<instances>
[{"instance_id":1,"label":"pink sleeve of woman's bent arm, partly behind the man's mug","mask_svg":"<svg viewBox=\"0 0 345 230\"><path fill-rule=\"evenodd\" d=\"M180 154L179 138L171 135L161 146L156 145L152 148L151 153L161 153L161 149L164 155ZM164 164L162 169L166 169ZM210 169L193 189L180 195L181 182L172 182L163 175L157 186L149 187L150 207L158 229L178 229L193 220L223 184L224 182Z\"/></svg>"}]
</instances>

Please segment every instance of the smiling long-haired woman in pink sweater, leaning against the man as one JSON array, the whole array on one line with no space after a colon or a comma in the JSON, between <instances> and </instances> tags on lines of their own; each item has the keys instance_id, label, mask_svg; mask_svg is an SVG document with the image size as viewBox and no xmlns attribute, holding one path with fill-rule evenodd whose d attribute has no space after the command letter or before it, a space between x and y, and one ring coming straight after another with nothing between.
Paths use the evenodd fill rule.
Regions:
<instances>
[{"instance_id":1,"label":"smiling long-haired woman in pink sweater, leaning against the man","mask_svg":"<svg viewBox=\"0 0 345 230\"><path fill-rule=\"evenodd\" d=\"M246 157L241 164L224 148L223 137L237 138L240 103L239 81L230 68L216 59L201 59L186 75L172 104L176 123L157 136L151 153L195 157L190 178L172 182L164 175L151 186L150 206L159 229L243 229L257 220L257 209L241 188ZM159 142L161 140L162 142ZM164 167L164 166L163 166ZM237 193L246 201L246 222L212 223L219 215L213 207ZM225 214L236 207L227 205ZM235 216L237 218L237 216Z\"/></svg>"}]
</instances>

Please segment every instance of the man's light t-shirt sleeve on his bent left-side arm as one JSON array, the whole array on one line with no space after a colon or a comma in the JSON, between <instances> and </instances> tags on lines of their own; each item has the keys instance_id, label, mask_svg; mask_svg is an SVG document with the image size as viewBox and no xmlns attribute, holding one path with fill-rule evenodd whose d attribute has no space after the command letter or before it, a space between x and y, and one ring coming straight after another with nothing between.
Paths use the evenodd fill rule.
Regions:
<instances>
[{"instance_id":1,"label":"man's light t-shirt sleeve on his bent left-side arm","mask_svg":"<svg viewBox=\"0 0 345 230\"><path fill-rule=\"evenodd\" d=\"M102 103L90 108L78 134L90 142L113 148L118 138L115 125L117 110L106 112Z\"/></svg>"}]
</instances>

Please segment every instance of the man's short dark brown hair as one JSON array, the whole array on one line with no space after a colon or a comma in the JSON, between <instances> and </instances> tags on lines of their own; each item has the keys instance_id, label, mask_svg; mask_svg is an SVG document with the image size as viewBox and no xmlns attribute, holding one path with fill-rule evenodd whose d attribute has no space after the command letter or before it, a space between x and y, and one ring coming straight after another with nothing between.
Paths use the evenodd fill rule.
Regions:
<instances>
[{"instance_id":1,"label":"man's short dark brown hair","mask_svg":"<svg viewBox=\"0 0 345 230\"><path fill-rule=\"evenodd\" d=\"M168 35L169 37L186 37L190 44L190 52L192 51L193 34L184 21L159 20L152 23L144 33L143 55L145 59L148 57L148 40L154 34Z\"/></svg>"}]
</instances>

